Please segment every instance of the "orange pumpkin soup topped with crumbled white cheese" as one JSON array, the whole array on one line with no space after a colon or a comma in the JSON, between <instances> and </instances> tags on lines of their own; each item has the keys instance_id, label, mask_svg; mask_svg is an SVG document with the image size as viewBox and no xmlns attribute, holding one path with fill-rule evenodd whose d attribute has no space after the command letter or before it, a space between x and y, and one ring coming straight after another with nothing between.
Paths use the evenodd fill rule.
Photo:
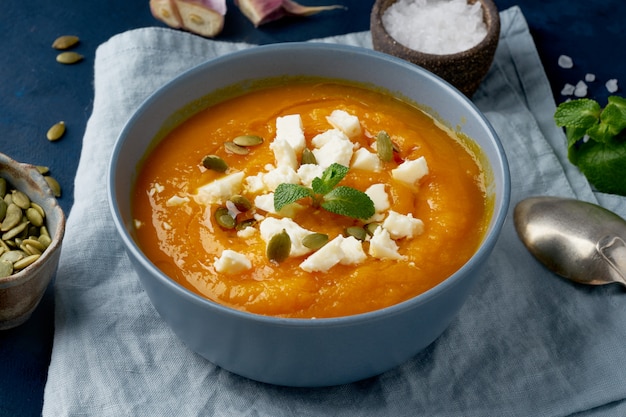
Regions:
<instances>
[{"instance_id":1,"label":"orange pumpkin soup topped with crumbled white cheese","mask_svg":"<svg viewBox=\"0 0 626 417\"><path fill-rule=\"evenodd\" d=\"M389 161L377 149L381 131L393 143ZM225 146L242 135L263 141ZM303 164L305 152L316 164ZM207 155L225 165L207 168ZM474 254L491 215L480 160L471 141L389 94L323 80L266 86L200 111L150 151L135 186L134 232L166 275L217 303L294 318L369 312L427 291ZM276 213L277 184L311 187L331 163L348 166L337 186L365 192L372 218L308 198ZM357 239L349 227L368 233ZM283 230L289 256L270 260L268 241ZM303 246L312 233L328 243Z\"/></svg>"}]
</instances>

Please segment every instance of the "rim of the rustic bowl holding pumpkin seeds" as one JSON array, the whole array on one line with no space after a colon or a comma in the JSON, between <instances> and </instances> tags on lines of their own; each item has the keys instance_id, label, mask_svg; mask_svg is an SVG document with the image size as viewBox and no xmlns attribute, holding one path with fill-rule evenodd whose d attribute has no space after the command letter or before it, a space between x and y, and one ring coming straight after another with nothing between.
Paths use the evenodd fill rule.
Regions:
<instances>
[{"instance_id":1,"label":"rim of the rustic bowl holding pumpkin seeds","mask_svg":"<svg viewBox=\"0 0 626 417\"><path fill-rule=\"evenodd\" d=\"M41 195L43 196L43 198L46 201L50 202L50 209L54 211L58 217L58 223L56 225L54 236L51 236L52 242L50 243L50 246L48 246L48 248L46 248L46 250L43 251L39 259L37 259L28 267L22 269L19 272L13 273L7 277L0 277L0 289L2 289L2 288L10 288L12 286L19 285L23 281L30 279L31 272L33 270L33 268L31 267L43 265L45 262L48 261L48 259L50 259L53 256L54 252L56 252L62 245L63 236L65 235L66 218L65 218L65 213L63 212L63 209L61 208L61 205L59 204L57 198L54 196L52 190L50 189L50 186L48 185L48 183L44 179L44 176L39 172L36 166L29 164L29 163L25 163L25 162L19 162L4 153L0 153L0 165L15 166L16 172L19 172L20 174L23 174L24 177L28 177L29 179L31 179L35 183L35 185L39 188L37 192L41 191ZM7 179L9 182L11 182L11 178L14 177L13 175L6 175L4 172L0 176ZM10 178L7 178L7 177L10 177ZM14 184L11 184L11 185L14 185ZM26 194L29 194L28 191L24 191L24 190L21 190L21 191L25 192ZM31 195L29 195L29 198L32 198ZM50 213L46 212L46 218L49 218L49 214Z\"/></svg>"}]
</instances>

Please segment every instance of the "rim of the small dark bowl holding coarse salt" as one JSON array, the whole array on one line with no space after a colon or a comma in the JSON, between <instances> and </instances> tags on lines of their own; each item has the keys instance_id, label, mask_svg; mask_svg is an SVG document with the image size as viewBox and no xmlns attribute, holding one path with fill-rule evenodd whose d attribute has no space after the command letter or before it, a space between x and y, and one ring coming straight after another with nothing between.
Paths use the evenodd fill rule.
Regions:
<instances>
[{"instance_id":1,"label":"rim of the small dark bowl holding coarse salt","mask_svg":"<svg viewBox=\"0 0 626 417\"><path fill-rule=\"evenodd\" d=\"M395 48L400 49L403 55L405 56L420 56L427 60L432 61L442 61L442 60L461 60L467 59L469 56L478 53L481 50L488 49L493 39L499 39L500 37L500 13L498 11L498 7L493 2L493 0L475 0L474 3L479 2L483 6L483 16L491 17L487 23L487 33L485 37L478 42L476 45L472 46L469 49L465 49L463 51L455 52L452 54L433 54L429 52L422 52L417 49L411 49L403 43L396 40L393 36L389 34L387 28L383 24L382 16L385 11L397 0L392 0L389 4L383 9L381 7L381 3L385 0L376 0L374 7L372 8L372 13L370 16L370 26L373 26L374 23L378 26L378 29L385 37L386 41L392 43ZM472 3L472 4L474 4Z\"/></svg>"}]
</instances>

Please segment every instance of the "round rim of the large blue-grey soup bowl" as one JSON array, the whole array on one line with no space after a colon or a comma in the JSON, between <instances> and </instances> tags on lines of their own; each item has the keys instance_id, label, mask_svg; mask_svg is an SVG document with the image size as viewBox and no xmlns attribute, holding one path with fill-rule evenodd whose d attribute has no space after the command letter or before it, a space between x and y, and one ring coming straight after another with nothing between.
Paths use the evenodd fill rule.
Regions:
<instances>
[{"instance_id":1,"label":"round rim of the large blue-grey soup bowl","mask_svg":"<svg viewBox=\"0 0 626 417\"><path fill-rule=\"evenodd\" d=\"M210 300L208 298L202 297L191 290L183 287L178 284L173 279L169 278L165 273L163 273L159 268L157 268L146 255L143 254L138 244L130 235L126 225L123 223L123 217L121 215L118 199L115 190L116 184L116 166L117 161L119 159L119 155L121 153L121 148L125 143L125 136L129 130L131 130L133 124L140 119L145 109L149 107L152 103L157 101L159 97L164 94L164 91L175 87L177 83L181 82L189 77L193 77L196 73L203 73L206 71L210 71L211 67L219 66L227 64L233 58L246 58L252 55L257 54L268 54L274 51L297 51L298 53L306 53L307 51L320 51L320 50L328 50L335 53L349 53L349 54L359 54L365 55L368 58L384 60L388 61L391 65L402 66L410 71L417 72L422 77L430 78L432 82L440 84L443 88L452 90L453 94L458 97L459 100L464 101L465 105L470 108L479 119L479 121L485 126L487 131L489 132L489 137L493 142L494 147L497 149L498 159L503 171L502 178L502 196L501 201L502 204L499 207L494 206L494 211L492 214L491 221L489 223L489 228L485 232L483 236L482 243L480 247L474 252L474 254L470 257L470 259L465 262L458 270L452 273L450 276L445 278L442 282L430 288L429 290L418 294L417 296L411 297L405 301L400 303L378 309L369 312L348 315L348 316L340 316L340 317L328 317L328 318L291 318L291 317L276 317L269 315L261 315L257 313L252 313L248 311L238 310L223 304L220 304L216 301ZM493 168L496 168L495 166ZM495 169L494 169L495 171ZM500 235L501 229L504 225L504 222L507 217L508 207L510 204L510 196L511 196L511 182L510 182L510 172L509 165L506 158L506 153L502 146L502 143L499 139L498 134L495 129L491 125L491 123L487 120L485 115L478 109L478 107L463 93L461 93L458 89L452 86L450 83L442 79L441 77L427 71L424 68L413 65L405 60L400 58L384 54L382 52L374 51L372 49L367 49L360 46L353 45L343 45L343 44L334 44L334 43L323 43L323 42L288 42L288 43L278 43L278 44L269 44L269 45L260 45L253 46L247 49L238 50L235 52L231 52L225 55L221 55L215 58L208 59L178 75L174 78L170 79L164 85L157 88L152 94L150 94L143 102L139 104L136 110L131 114L127 122L125 123L123 129L120 131L114 147L111 153L109 163L108 163L108 172L106 175L107 179L107 197L109 203L109 210L111 212L113 222L115 224L115 228L118 232L119 237L122 239L122 243L127 252L130 252L129 256L134 258L137 262L141 264L143 268L145 268L151 279L157 279L159 282L165 286L167 286L171 291L174 291L181 297L185 298L187 301L200 304L203 307L211 309L215 312L234 316L240 319L260 322L268 325L274 326L283 326L283 327L306 327L306 328L317 328L317 327L333 327L333 326L346 326L346 325L354 325L357 323L363 322L371 322L373 320L383 320L388 318L389 316L401 314L407 310L411 310L416 308L417 306L429 302L432 299L438 298L445 294L447 291L450 291L454 288L459 280L463 278L465 271L471 271L476 268L480 260L486 258L491 253L493 247L495 246L498 237ZM131 259L132 262L132 259ZM136 271L134 271L137 273ZM139 275L139 273L137 273Z\"/></svg>"}]
</instances>

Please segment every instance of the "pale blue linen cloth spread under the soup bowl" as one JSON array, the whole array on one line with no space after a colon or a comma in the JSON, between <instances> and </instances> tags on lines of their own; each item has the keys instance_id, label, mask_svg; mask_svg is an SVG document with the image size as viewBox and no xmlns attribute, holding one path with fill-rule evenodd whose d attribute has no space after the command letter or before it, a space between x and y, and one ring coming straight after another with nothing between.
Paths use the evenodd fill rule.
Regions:
<instances>
[{"instance_id":1,"label":"pale blue linen cloth spread under the soup bowl","mask_svg":"<svg viewBox=\"0 0 626 417\"><path fill-rule=\"evenodd\" d=\"M555 104L524 16L501 13L496 60L473 100L502 139L512 202L560 195L626 216L566 158ZM371 48L369 32L325 42ZM291 389L224 371L159 318L118 239L105 190L113 143L134 109L182 71L251 45L169 29L101 45L56 279L56 327L44 416L623 416L626 295L583 287L532 258L509 220L459 316L402 366L353 384Z\"/></svg>"}]
</instances>

